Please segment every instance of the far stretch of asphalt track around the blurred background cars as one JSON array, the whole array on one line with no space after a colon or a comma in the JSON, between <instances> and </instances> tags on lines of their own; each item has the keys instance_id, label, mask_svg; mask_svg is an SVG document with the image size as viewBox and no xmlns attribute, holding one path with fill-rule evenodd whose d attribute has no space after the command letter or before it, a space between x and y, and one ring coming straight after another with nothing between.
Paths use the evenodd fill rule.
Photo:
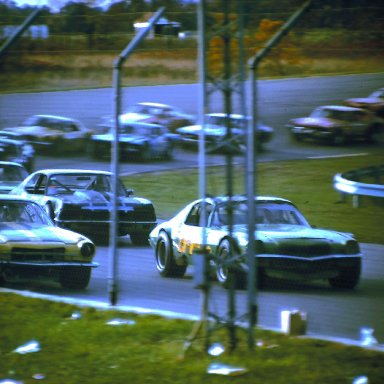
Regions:
<instances>
[{"instance_id":1,"label":"far stretch of asphalt track around the blurred background cars","mask_svg":"<svg viewBox=\"0 0 384 384\"><path fill-rule=\"evenodd\" d=\"M343 154L381 153L383 144L356 143L345 147L296 143L289 139L285 124L290 118L306 116L318 105L341 103L353 96L365 96L384 84L384 73L337 77L263 80L258 84L258 110L262 120L274 127L275 137L259 161L287 160ZM123 106L138 101L157 101L178 106L188 113L198 111L199 87L196 84L133 87L123 89ZM94 127L101 116L113 112L113 89L94 89L68 92L0 94L0 127L20 124L33 114L58 114L81 120ZM250 104L250 98L247 98ZM221 111L220 96L212 97L211 111ZM123 108L124 109L124 108ZM248 105L250 111L250 105ZM238 107L234 107L234 112ZM207 156L207 165L223 162L222 156ZM237 161L243 161L237 158ZM197 166L197 155L179 150L173 162L150 164L124 163L121 173ZM87 156L44 158L38 156L37 168L73 167L109 169L107 162L94 162Z\"/></svg>"}]
</instances>

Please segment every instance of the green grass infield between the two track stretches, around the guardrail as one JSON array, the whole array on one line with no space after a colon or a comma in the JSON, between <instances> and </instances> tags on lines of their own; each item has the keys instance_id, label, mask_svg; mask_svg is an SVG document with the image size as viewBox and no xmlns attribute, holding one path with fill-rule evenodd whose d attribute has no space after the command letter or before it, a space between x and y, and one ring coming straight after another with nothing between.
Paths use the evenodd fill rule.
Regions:
<instances>
[{"instance_id":1,"label":"green grass infield between the two track stretches, around the guardrail","mask_svg":"<svg viewBox=\"0 0 384 384\"><path fill-rule=\"evenodd\" d=\"M384 244L384 201L362 197L359 208L351 196L341 202L333 177L353 169L384 164L384 155L348 156L260 163L256 169L257 194L281 196L293 201L312 225L352 232L360 242ZM233 172L234 193L245 193L245 170ZM225 167L206 169L207 193L227 193ZM160 219L168 219L186 203L199 198L199 170L128 176L125 184L137 195L151 199ZM373 180L365 182L373 183Z\"/></svg>"}]
</instances>

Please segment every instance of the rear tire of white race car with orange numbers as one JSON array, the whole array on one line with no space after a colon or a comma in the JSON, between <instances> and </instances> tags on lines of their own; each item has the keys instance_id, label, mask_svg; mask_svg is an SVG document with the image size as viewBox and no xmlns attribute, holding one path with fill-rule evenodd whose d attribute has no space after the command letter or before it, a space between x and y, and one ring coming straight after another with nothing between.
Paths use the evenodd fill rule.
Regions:
<instances>
[{"instance_id":1,"label":"rear tire of white race car with orange numbers","mask_svg":"<svg viewBox=\"0 0 384 384\"><path fill-rule=\"evenodd\" d=\"M157 239L156 268L163 277L183 277L187 270L187 265L177 265L173 256L172 244L169 236L165 232L159 234Z\"/></svg>"}]
</instances>

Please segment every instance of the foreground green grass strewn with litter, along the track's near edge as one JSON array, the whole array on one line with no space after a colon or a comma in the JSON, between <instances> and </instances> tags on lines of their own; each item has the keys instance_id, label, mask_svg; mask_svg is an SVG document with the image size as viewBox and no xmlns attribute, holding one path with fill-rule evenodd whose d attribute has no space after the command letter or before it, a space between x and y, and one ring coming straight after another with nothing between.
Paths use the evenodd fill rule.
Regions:
<instances>
[{"instance_id":1,"label":"foreground green grass strewn with litter, along the track's near edge","mask_svg":"<svg viewBox=\"0 0 384 384\"><path fill-rule=\"evenodd\" d=\"M250 350L246 333L238 330L237 347L230 352L227 330L221 329L211 334L210 341L222 343L226 351L212 357L205 351L204 338L184 350L193 329L189 321L76 307L11 293L0 293L0 308L0 379L17 383L323 384L352 383L360 376L366 376L370 384L384 382L383 352L357 346L257 330L259 346ZM134 323L107 324L118 319ZM39 343L39 351L15 352L31 340ZM209 374L213 362L244 370L236 378Z\"/></svg>"}]
</instances>

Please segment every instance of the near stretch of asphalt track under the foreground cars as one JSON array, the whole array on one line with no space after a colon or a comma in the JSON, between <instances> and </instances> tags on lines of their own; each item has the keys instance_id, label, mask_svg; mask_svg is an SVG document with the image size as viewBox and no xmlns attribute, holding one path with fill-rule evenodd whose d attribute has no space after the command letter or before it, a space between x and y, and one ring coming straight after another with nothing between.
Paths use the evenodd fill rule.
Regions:
<instances>
[{"instance_id":1,"label":"near stretch of asphalt track under the foreground cars","mask_svg":"<svg viewBox=\"0 0 384 384\"><path fill-rule=\"evenodd\" d=\"M362 244L364 253L362 280L355 290L335 290L327 282L308 283L270 280L257 295L258 324L280 329L282 310L299 309L307 313L310 335L358 341L361 327L372 327L384 344L384 246ZM96 261L100 267L93 271L86 291L63 290L54 283L26 282L8 284L8 288L44 293L56 297L110 303L108 287L111 282L108 247L99 246ZM181 279L166 279L156 270L153 250L135 247L120 241L117 263L117 305L171 311L199 318L201 291L195 289L193 267ZM210 295L210 311L225 318L228 310L227 291L214 284ZM237 318L247 312L245 291L236 293Z\"/></svg>"}]
</instances>

